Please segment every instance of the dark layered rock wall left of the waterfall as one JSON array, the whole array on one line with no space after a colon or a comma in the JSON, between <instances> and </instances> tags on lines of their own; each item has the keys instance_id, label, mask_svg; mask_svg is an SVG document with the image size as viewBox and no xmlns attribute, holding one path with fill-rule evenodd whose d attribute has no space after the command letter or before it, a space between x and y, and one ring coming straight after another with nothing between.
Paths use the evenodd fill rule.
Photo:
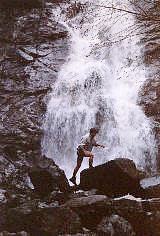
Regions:
<instances>
[{"instance_id":1,"label":"dark layered rock wall left of the waterfall","mask_svg":"<svg viewBox=\"0 0 160 236\"><path fill-rule=\"evenodd\" d=\"M33 165L41 152L44 97L65 61L67 32L47 5L0 8L0 14L1 151L13 161Z\"/></svg>"}]
</instances>

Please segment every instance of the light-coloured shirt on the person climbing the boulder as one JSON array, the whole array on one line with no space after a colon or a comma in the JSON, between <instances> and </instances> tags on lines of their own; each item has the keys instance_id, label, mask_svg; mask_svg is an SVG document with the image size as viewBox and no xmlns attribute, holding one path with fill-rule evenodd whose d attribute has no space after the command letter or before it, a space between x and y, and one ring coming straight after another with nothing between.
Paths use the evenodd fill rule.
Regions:
<instances>
[{"instance_id":1,"label":"light-coloured shirt on the person climbing the boulder","mask_svg":"<svg viewBox=\"0 0 160 236\"><path fill-rule=\"evenodd\" d=\"M90 136L90 134L86 134L81 138L81 142L78 145L78 148L84 148L85 150L91 152L93 146L97 146L95 139Z\"/></svg>"}]
</instances>

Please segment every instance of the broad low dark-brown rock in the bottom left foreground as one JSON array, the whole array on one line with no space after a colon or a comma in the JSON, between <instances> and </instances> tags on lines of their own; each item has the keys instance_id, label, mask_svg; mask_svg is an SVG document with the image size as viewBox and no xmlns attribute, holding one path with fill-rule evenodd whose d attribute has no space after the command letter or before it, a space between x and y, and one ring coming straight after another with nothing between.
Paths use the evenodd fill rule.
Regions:
<instances>
[{"instance_id":1,"label":"broad low dark-brown rock in the bottom left foreground","mask_svg":"<svg viewBox=\"0 0 160 236\"><path fill-rule=\"evenodd\" d=\"M65 223L64 223L65 222ZM59 235L82 231L79 217L66 207L48 207L37 209L32 202L8 212L7 228L11 232L25 230L32 235Z\"/></svg>"}]
</instances>

